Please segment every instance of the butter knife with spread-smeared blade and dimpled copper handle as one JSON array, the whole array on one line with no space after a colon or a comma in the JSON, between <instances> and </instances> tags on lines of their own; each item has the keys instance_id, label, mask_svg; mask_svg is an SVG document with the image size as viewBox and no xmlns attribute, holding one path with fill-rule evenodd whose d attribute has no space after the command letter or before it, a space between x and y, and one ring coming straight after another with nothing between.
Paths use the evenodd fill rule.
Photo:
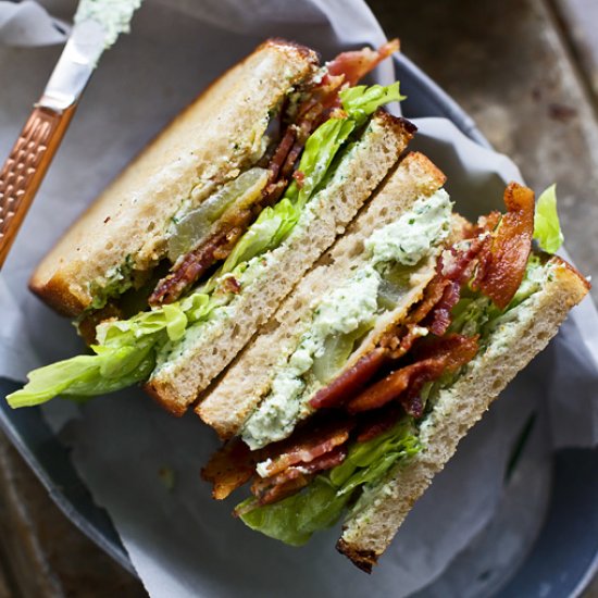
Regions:
<instances>
[{"instance_id":1,"label":"butter knife with spread-smeared blade and dimpled copper handle","mask_svg":"<svg viewBox=\"0 0 598 598\"><path fill-rule=\"evenodd\" d=\"M102 52L141 0L82 0L64 50L0 171L0 269Z\"/></svg>"}]
</instances>

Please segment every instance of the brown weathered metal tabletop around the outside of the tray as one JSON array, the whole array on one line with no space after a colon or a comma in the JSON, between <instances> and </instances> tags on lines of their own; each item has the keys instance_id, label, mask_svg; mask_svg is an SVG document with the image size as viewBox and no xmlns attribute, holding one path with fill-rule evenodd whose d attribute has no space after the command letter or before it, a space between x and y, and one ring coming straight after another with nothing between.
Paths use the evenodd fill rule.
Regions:
<instances>
[{"instance_id":1,"label":"brown weathered metal tabletop around the outside of the tray","mask_svg":"<svg viewBox=\"0 0 598 598\"><path fill-rule=\"evenodd\" d=\"M370 3L532 187L558 182L568 248L583 272L598 272L598 2ZM66 520L2 435L0 526L0 597L146 595ZM598 581L585 596L598 596Z\"/></svg>"}]
</instances>

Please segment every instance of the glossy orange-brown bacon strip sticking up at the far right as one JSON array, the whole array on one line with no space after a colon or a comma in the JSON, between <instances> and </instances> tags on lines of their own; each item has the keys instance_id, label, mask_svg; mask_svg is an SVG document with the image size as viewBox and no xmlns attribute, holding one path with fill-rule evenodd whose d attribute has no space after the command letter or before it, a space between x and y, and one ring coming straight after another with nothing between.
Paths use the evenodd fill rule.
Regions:
<instances>
[{"instance_id":1,"label":"glossy orange-brown bacon strip sticking up at the far right","mask_svg":"<svg viewBox=\"0 0 598 598\"><path fill-rule=\"evenodd\" d=\"M521 286L532 250L534 192L511 183L504 190L508 212L493 237L491 249L475 286L504 309Z\"/></svg>"}]
</instances>

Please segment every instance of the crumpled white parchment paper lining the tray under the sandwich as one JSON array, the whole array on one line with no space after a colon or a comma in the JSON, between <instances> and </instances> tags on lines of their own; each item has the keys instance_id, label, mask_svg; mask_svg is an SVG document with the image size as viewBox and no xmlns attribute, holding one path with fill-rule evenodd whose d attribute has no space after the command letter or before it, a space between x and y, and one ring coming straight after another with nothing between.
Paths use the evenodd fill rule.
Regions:
<instances>
[{"instance_id":1,"label":"crumpled white parchment paper lining the tray under the sandwich","mask_svg":"<svg viewBox=\"0 0 598 598\"><path fill-rule=\"evenodd\" d=\"M66 0L42 4L52 17L34 2L0 2L0 80L11 82L0 88L1 154L60 53L49 46L64 37L57 23L64 30L75 10ZM308 43L325 59L384 41L361 0L146 0L133 34L102 58L0 275L1 376L24 379L32 367L82 350L70 323L27 292L33 267L170 117L269 36ZM393 79L389 63L376 74ZM449 175L460 211L500 207L504 182L520 178L507 158L447 121L418 125L414 147ZM80 409L57 400L45 413L73 447L79 474L152 596L479 596L504 580L534 538L549 495L550 450L596 443L597 322L586 300L463 440L372 577L333 549L338 530L294 549L232 519L235 501L215 503L199 478L217 443L195 415L171 418L136 390ZM507 475L528 422L530 441ZM160 481L164 469L174 472L172 489ZM491 575L479 582L488 568Z\"/></svg>"}]
</instances>

